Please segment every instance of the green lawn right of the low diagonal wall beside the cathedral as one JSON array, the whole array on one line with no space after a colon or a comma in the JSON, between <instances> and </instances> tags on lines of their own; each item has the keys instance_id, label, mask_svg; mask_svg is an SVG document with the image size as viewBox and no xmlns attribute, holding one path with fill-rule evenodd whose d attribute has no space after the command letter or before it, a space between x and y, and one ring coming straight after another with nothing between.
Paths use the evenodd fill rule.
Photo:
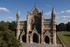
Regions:
<instances>
[{"instance_id":1,"label":"green lawn right of the low diagonal wall beside the cathedral","mask_svg":"<svg viewBox=\"0 0 70 47\"><path fill-rule=\"evenodd\" d=\"M60 31L57 32L63 43L66 45L66 47L70 47L70 32L67 31Z\"/></svg>"}]
</instances>

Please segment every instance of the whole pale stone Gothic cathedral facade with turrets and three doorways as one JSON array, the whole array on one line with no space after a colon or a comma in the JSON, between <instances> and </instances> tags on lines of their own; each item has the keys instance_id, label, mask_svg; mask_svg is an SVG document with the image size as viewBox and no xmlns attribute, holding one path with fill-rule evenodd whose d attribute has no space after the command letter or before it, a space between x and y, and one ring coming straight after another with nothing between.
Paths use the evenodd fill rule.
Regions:
<instances>
[{"instance_id":1,"label":"whole pale stone Gothic cathedral facade with turrets and three doorways","mask_svg":"<svg viewBox=\"0 0 70 47\"><path fill-rule=\"evenodd\" d=\"M56 14L54 8L51 18L44 19L44 14L34 5L27 13L27 20L20 21L20 11L16 14L16 36L21 43L56 44Z\"/></svg>"}]
</instances>

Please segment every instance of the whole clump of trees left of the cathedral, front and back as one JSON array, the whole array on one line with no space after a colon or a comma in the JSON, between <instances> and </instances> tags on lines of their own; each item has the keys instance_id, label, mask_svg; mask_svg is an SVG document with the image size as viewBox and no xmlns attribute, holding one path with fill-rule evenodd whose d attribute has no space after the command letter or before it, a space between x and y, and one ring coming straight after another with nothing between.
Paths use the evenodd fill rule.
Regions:
<instances>
[{"instance_id":1,"label":"whole clump of trees left of the cathedral, front and back","mask_svg":"<svg viewBox=\"0 0 70 47\"><path fill-rule=\"evenodd\" d=\"M0 22L0 47L21 47L21 43L16 39L14 22ZM10 28L11 27L11 28Z\"/></svg>"}]
</instances>

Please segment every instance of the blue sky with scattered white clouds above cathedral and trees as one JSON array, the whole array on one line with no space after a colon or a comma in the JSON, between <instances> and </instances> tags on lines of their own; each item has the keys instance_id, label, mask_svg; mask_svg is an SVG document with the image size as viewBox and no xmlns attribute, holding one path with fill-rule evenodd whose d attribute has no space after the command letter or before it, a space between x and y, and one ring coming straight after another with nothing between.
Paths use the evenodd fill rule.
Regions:
<instances>
[{"instance_id":1,"label":"blue sky with scattered white clouds above cathedral and trees","mask_svg":"<svg viewBox=\"0 0 70 47\"><path fill-rule=\"evenodd\" d=\"M27 12L31 11L36 2L44 18L51 17L52 6L56 11L56 23L70 22L70 0L0 0L0 21L16 20L17 10L20 10L21 20L27 19Z\"/></svg>"}]
</instances>

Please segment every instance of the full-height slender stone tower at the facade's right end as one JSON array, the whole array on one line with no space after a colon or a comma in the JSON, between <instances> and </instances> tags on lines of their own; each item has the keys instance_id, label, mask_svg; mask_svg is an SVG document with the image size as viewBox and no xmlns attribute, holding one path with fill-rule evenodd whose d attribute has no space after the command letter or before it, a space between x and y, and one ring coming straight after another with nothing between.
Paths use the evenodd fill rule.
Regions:
<instances>
[{"instance_id":1,"label":"full-height slender stone tower at the facade's right end","mask_svg":"<svg viewBox=\"0 0 70 47\"><path fill-rule=\"evenodd\" d=\"M52 37L53 37L53 44L56 44L56 12L54 7L52 8L51 19L52 19Z\"/></svg>"}]
</instances>

